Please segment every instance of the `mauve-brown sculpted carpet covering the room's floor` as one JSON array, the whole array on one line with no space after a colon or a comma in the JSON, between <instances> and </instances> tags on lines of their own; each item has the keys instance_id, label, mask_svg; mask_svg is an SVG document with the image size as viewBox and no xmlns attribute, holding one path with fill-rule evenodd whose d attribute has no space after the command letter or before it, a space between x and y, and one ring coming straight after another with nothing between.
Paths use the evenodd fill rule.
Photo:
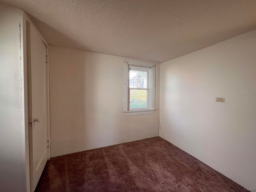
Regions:
<instances>
[{"instance_id":1,"label":"mauve-brown sculpted carpet covering the room's floor","mask_svg":"<svg viewBox=\"0 0 256 192\"><path fill-rule=\"evenodd\" d=\"M144 191L236 192L222 175L160 137L51 158L36 188L36 192Z\"/></svg>"}]
</instances>

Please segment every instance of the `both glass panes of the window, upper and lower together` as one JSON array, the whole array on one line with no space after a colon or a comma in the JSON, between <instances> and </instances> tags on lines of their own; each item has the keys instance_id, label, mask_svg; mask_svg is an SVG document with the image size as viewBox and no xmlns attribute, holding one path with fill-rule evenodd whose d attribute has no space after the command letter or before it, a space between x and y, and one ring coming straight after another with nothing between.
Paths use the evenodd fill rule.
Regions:
<instances>
[{"instance_id":1,"label":"both glass panes of the window, upper and lower together","mask_svg":"<svg viewBox=\"0 0 256 192\"><path fill-rule=\"evenodd\" d=\"M132 88L148 88L147 72L130 70L130 108L147 107L147 90L133 90Z\"/></svg>"}]
</instances>

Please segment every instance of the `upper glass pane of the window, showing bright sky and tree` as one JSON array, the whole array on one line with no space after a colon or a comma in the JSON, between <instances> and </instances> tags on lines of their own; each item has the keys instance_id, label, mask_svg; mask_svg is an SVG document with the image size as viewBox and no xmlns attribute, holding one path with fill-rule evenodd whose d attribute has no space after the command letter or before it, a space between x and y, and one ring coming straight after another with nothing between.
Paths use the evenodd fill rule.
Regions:
<instances>
[{"instance_id":1,"label":"upper glass pane of the window, showing bright sky and tree","mask_svg":"<svg viewBox=\"0 0 256 192\"><path fill-rule=\"evenodd\" d=\"M130 70L130 88L147 88L147 72Z\"/></svg>"}]
</instances>

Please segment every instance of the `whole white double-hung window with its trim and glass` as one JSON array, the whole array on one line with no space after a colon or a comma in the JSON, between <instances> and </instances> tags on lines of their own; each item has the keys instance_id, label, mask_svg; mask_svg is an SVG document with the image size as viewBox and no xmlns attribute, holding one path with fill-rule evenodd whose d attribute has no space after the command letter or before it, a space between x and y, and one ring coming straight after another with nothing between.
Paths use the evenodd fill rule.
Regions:
<instances>
[{"instance_id":1,"label":"whole white double-hung window with its trim and glass","mask_svg":"<svg viewBox=\"0 0 256 192\"><path fill-rule=\"evenodd\" d=\"M124 115L155 112L155 64L124 61Z\"/></svg>"}]
</instances>

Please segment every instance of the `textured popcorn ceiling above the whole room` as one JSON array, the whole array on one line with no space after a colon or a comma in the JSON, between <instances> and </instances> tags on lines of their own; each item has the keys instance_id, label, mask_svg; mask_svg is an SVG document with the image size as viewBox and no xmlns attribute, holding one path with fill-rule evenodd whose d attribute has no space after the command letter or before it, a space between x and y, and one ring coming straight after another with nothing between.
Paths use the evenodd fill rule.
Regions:
<instances>
[{"instance_id":1,"label":"textured popcorn ceiling above the whole room","mask_svg":"<svg viewBox=\"0 0 256 192\"><path fill-rule=\"evenodd\" d=\"M49 44L164 62L256 29L256 0L0 0Z\"/></svg>"}]
</instances>

